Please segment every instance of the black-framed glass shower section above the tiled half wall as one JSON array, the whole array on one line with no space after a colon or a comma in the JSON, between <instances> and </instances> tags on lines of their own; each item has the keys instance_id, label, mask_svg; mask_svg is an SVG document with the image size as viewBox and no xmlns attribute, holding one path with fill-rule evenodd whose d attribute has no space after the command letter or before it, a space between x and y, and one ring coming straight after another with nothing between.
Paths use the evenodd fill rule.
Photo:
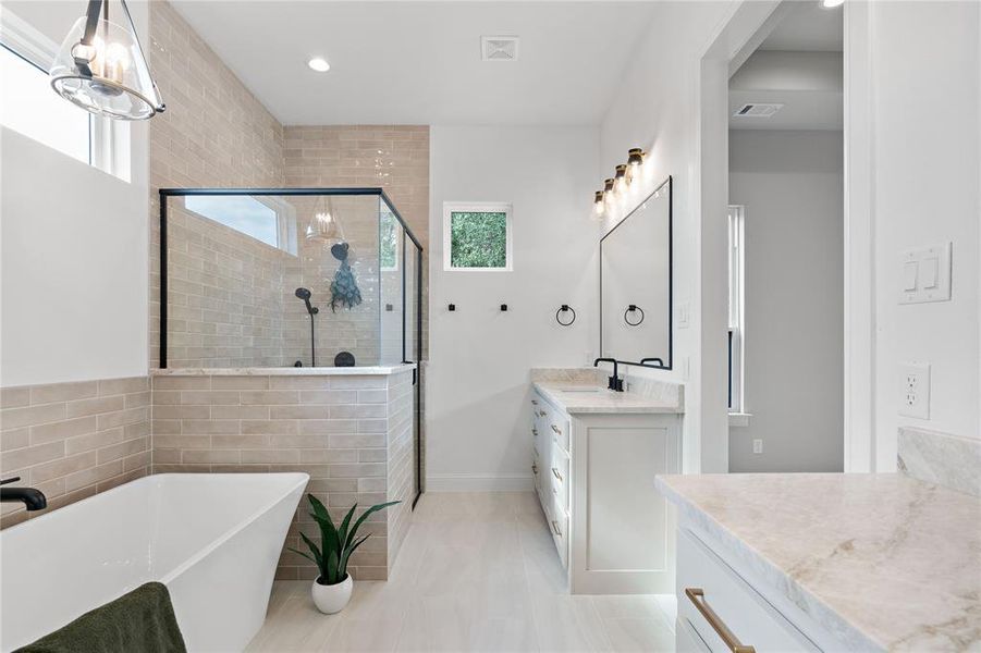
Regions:
<instances>
[{"instance_id":1,"label":"black-framed glass shower section above the tiled half wall","mask_svg":"<svg viewBox=\"0 0 981 653\"><path fill-rule=\"evenodd\" d=\"M418 358L422 250L379 188L161 189L160 235L161 368Z\"/></svg>"}]
</instances>

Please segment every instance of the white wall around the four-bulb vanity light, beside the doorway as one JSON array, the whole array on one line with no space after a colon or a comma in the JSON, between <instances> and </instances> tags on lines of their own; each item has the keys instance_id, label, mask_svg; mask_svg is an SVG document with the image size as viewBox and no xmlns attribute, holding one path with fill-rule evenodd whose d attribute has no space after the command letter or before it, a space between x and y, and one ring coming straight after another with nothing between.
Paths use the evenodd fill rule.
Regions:
<instances>
[{"instance_id":1,"label":"white wall around the four-bulb vanity light, beside the doorway","mask_svg":"<svg viewBox=\"0 0 981 653\"><path fill-rule=\"evenodd\" d=\"M626 161L627 149L631 147L643 147L649 152L645 163L649 184L674 175L674 369L627 371L685 383L683 459L685 471L689 472L725 471L727 464L724 426L710 427L711 444L702 446L702 383L711 382L713 394L722 392L725 367L723 361L715 361L718 369L713 377L719 378L702 378L698 130L701 57L732 9L731 2L660 3L657 20L638 45L620 89L610 98L610 110L600 130L600 178L612 176L614 165ZM724 219L723 213L720 220ZM611 215L608 226L615 220ZM724 231L724 223L721 224ZM724 256L718 262L724 267ZM688 328L679 328L677 323L682 305L688 307ZM723 342L724 329L718 337ZM725 405L720 405L715 412L719 412L715 421L723 424Z\"/></svg>"}]
</instances>

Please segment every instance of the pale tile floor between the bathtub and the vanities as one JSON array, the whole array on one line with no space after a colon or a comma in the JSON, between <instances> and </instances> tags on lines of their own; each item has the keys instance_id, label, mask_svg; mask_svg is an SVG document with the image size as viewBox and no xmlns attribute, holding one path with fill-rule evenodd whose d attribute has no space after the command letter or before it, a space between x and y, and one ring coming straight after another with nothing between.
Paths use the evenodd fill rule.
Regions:
<instances>
[{"instance_id":1,"label":"pale tile floor between the bathtub and the vanities","mask_svg":"<svg viewBox=\"0 0 981 653\"><path fill-rule=\"evenodd\" d=\"M248 651L673 651L671 596L571 596L534 493L427 494L388 582L339 615L277 582Z\"/></svg>"}]
</instances>

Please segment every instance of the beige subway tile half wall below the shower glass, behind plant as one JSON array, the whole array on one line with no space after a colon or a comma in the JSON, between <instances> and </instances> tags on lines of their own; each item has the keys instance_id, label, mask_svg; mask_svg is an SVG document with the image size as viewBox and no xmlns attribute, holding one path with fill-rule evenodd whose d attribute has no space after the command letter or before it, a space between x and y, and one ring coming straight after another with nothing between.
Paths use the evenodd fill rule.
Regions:
<instances>
[{"instance_id":1,"label":"beige subway tile half wall below the shower glass, behind plant","mask_svg":"<svg viewBox=\"0 0 981 653\"><path fill-rule=\"evenodd\" d=\"M155 375L152 471L304 471L308 491L340 520L412 492L412 372L391 375ZM406 447L409 459L406 461ZM408 480L406 480L406 468ZM355 578L383 580L407 528L405 502L367 522L373 537L352 558ZM306 498L286 537L319 541ZM391 521L390 521L391 520ZM393 525L395 539L390 540ZM281 579L316 577L284 551Z\"/></svg>"}]
</instances>

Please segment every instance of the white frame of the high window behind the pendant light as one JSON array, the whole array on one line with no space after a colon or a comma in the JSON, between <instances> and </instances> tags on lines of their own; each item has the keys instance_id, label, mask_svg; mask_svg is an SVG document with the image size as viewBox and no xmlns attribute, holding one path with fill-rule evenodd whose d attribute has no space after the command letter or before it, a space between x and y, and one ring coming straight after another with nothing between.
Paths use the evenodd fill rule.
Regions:
<instances>
[{"instance_id":1,"label":"white frame of the high window behind the pendant light","mask_svg":"<svg viewBox=\"0 0 981 653\"><path fill-rule=\"evenodd\" d=\"M40 69L41 74L51 69L59 48L59 44L7 8L0 12L0 44ZM127 122L89 114L88 164L124 182L131 181Z\"/></svg>"}]
</instances>

